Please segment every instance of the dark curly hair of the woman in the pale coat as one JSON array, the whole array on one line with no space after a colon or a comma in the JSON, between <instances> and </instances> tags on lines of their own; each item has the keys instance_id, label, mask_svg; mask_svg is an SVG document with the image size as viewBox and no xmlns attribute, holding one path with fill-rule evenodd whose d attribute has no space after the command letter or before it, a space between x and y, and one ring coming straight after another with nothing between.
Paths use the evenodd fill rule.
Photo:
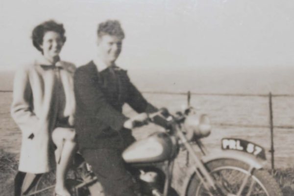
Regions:
<instances>
[{"instance_id":1,"label":"dark curly hair of the woman in the pale coat","mask_svg":"<svg viewBox=\"0 0 294 196\"><path fill-rule=\"evenodd\" d=\"M43 37L44 37L45 33L48 31L54 31L54 32L59 33L63 43L65 43L65 41L66 41L66 37L64 35L65 29L62 24L58 24L53 20L49 20L44 23L41 23L40 25L36 26L33 29L32 41L33 41L34 47L37 50L41 51L42 53L43 53L43 49L40 47L40 45L43 44Z\"/></svg>"}]
</instances>

